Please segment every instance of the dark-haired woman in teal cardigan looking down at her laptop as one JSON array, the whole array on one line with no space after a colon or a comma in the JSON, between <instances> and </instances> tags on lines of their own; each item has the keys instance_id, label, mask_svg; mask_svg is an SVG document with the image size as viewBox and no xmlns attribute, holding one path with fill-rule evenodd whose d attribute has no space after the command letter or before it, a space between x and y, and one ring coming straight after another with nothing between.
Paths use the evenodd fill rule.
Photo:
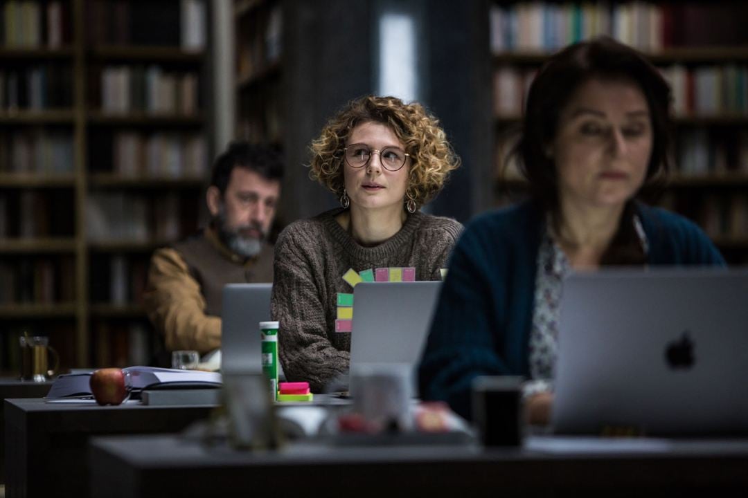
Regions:
<instances>
[{"instance_id":1,"label":"dark-haired woman in teal cardigan looking down at her laptop","mask_svg":"<svg viewBox=\"0 0 748 498\"><path fill-rule=\"evenodd\" d=\"M424 399L470 418L476 376L521 375L531 423L553 402L562 278L607 265L724 265L692 222L637 200L668 167L670 90L610 38L551 57L515 153L531 199L478 217L450 260L419 368Z\"/></svg>"}]
</instances>

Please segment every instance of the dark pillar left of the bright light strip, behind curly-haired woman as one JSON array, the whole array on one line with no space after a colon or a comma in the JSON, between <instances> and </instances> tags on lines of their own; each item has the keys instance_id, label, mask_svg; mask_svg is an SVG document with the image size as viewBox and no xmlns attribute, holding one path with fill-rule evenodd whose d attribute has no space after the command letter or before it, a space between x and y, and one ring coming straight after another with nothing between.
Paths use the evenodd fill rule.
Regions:
<instances>
[{"instance_id":1,"label":"dark pillar left of the bright light strip, behind curly-haired woman","mask_svg":"<svg viewBox=\"0 0 748 498\"><path fill-rule=\"evenodd\" d=\"M283 4L283 78L286 96L281 216L286 222L337 205L310 180L309 144L327 119L350 99L372 92L368 0Z\"/></svg>"}]
</instances>

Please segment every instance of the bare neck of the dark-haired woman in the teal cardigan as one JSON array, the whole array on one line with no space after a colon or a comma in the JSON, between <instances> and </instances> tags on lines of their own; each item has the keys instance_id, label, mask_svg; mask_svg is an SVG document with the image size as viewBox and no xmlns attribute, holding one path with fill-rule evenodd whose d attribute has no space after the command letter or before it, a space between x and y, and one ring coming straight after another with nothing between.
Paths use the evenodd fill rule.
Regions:
<instances>
[{"instance_id":1,"label":"bare neck of the dark-haired woman in the teal cardigan","mask_svg":"<svg viewBox=\"0 0 748 498\"><path fill-rule=\"evenodd\" d=\"M597 208L561 202L554 238L571 267L596 268L618 231L623 205Z\"/></svg>"}]
</instances>

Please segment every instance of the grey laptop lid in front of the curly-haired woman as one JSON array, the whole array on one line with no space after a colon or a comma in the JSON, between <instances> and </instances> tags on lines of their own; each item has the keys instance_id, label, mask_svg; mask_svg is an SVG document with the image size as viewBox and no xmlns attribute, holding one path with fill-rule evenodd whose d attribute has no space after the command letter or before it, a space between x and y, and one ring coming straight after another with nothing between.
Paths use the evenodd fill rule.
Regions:
<instances>
[{"instance_id":1,"label":"grey laptop lid in front of the curly-haired woman","mask_svg":"<svg viewBox=\"0 0 748 498\"><path fill-rule=\"evenodd\" d=\"M412 392L441 281L361 282L353 292L351 373L370 364L407 364ZM354 376L350 376L353 380ZM349 393L355 396L355 382Z\"/></svg>"}]
</instances>

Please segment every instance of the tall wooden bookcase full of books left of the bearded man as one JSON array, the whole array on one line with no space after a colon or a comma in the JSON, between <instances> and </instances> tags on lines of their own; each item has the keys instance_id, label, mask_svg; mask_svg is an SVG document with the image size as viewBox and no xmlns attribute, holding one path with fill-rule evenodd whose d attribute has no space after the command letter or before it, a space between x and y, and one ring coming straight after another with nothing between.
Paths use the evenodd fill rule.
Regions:
<instances>
[{"instance_id":1,"label":"tall wooden bookcase full of books left of the bearded man","mask_svg":"<svg viewBox=\"0 0 748 498\"><path fill-rule=\"evenodd\" d=\"M0 8L0 373L24 332L63 370L150 362L150 253L197 228L208 174L211 2Z\"/></svg>"}]
</instances>

